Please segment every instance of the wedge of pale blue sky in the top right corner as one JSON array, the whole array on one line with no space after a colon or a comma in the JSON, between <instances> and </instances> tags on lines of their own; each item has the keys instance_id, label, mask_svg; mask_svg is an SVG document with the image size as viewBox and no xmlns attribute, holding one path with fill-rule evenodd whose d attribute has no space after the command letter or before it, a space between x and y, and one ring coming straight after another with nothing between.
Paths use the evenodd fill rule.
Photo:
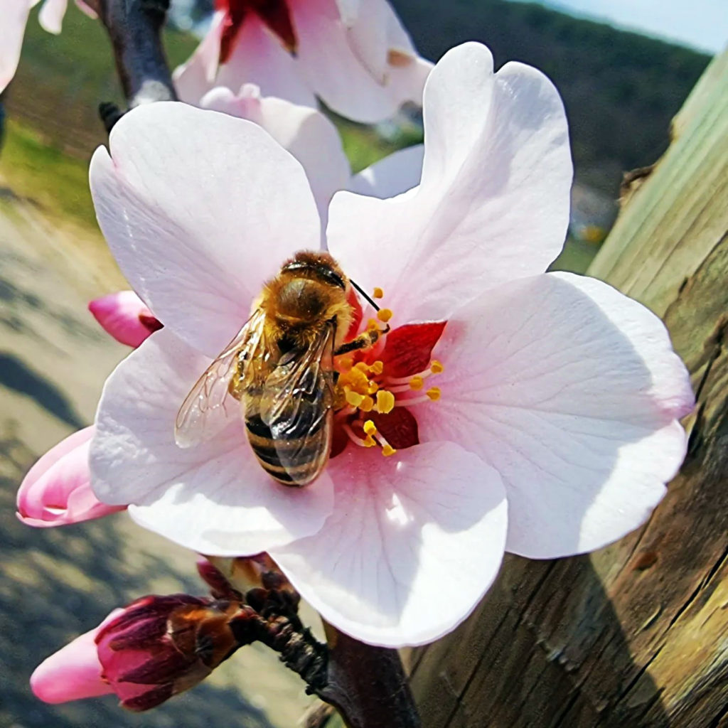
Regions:
<instances>
[{"instance_id":1,"label":"wedge of pale blue sky in the top right corner","mask_svg":"<svg viewBox=\"0 0 728 728\"><path fill-rule=\"evenodd\" d=\"M728 45L728 0L543 0L572 15L719 52Z\"/></svg>"}]
</instances>

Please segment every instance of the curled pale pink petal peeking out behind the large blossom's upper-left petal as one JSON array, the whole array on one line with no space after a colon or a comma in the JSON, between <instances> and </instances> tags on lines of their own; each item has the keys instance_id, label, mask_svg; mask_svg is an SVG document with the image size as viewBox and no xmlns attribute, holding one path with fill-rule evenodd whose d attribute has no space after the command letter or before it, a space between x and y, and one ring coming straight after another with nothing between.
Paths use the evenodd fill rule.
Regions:
<instances>
[{"instance_id":1,"label":"curled pale pink petal peeking out behind the large blossom's upper-left petal","mask_svg":"<svg viewBox=\"0 0 728 728\"><path fill-rule=\"evenodd\" d=\"M281 98L261 98L253 84L246 84L238 95L215 88L202 98L200 106L260 124L290 151L304 167L325 229L328 203L334 192L347 187L351 170L339 132L320 111Z\"/></svg>"}]
</instances>

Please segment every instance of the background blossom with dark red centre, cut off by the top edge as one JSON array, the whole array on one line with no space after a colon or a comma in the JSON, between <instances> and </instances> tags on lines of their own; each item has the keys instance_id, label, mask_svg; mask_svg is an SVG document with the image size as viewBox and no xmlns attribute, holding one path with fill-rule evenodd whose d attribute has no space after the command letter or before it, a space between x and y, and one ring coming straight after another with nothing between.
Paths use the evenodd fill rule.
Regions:
<instances>
[{"instance_id":1,"label":"background blossom with dark red centre, cut off by the top edge","mask_svg":"<svg viewBox=\"0 0 728 728\"><path fill-rule=\"evenodd\" d=\"M387 0L218 0L207 36L174 73L181 100L257 84L266 96L378 122L422 101L432 64Z\"/></svg>"}]
</instances>

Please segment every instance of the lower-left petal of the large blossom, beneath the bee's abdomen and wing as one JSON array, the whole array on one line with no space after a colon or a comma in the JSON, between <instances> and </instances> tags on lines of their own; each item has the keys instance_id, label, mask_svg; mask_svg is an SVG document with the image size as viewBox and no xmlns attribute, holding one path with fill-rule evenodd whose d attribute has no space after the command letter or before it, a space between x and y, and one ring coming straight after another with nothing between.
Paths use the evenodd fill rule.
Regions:
<instances>
[{"instance_id":1,"label":"lower-left petal of the large blossom, beneath the bee's abdomen and wing","mask_svg":"<svg viewBox=\"0 0 728 728\"><path fill-rule=\"evenodd\" d=\"M209 363L164 328L119 364L103 389L91 445L97 496L134 504L135 521L209 555L259 553L315 533L331 513L331 478L306 488L274 483L250 451L232 397L216 438L175 445L177 411Z\"/></svg>"}]
</instances>

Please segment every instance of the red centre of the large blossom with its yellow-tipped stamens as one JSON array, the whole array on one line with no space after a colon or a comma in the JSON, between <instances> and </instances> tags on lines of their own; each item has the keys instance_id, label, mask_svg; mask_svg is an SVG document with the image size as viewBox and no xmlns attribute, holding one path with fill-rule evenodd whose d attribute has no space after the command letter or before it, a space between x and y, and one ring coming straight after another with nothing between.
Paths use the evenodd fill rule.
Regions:
<instances>
[{"instance_id":1,"label":"red centre of the large blossom with its yellow-tipped stamens","mask_svg":"<svg viewBox=\"0 0 728 728\"><path fill-rule=\"evenodd\" d=\"M382 296L381 288L375 288L374 298ZM368 320L365 331L379 333L376 344L336 358L338 432L331 456L347 442L378 447L384 456L416 445L417 423L407 408L440 399L440 388L427 387L426 380L444 370L440 361L432 359L432 347L445 323L408 324L390 331L386 324L392 315L389 309L380 309L376 319Z\"/></svg>"}]
</instances>

